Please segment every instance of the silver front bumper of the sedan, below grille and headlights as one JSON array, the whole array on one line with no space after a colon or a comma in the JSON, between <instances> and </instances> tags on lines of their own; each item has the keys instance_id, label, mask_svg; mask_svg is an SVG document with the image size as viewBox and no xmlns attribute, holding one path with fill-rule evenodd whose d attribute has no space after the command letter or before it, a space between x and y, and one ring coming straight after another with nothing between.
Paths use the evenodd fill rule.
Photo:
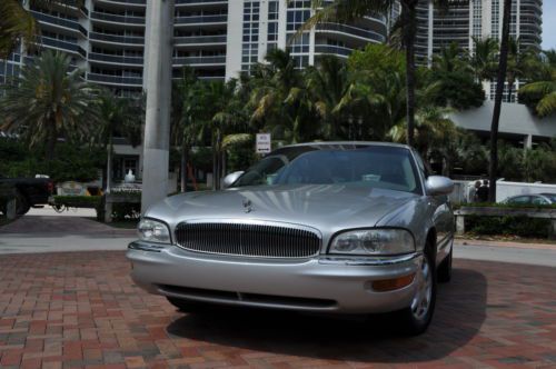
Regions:
<instances>
[{"instance_id":1,"label":"silver front bumper of the sedan, below grille and headlights","mask_svg":"<svg viewBox=\"0 0 556 369\"><path fill-rule=\"evenodd\" d=\"M192 301L321 312L369 313L408 307L416 280L375 291L373 281L417 273L423 256L395 258L244 259L176 246L132 242L131 277L151 293Z\"/></svg>"}]
</instances>

